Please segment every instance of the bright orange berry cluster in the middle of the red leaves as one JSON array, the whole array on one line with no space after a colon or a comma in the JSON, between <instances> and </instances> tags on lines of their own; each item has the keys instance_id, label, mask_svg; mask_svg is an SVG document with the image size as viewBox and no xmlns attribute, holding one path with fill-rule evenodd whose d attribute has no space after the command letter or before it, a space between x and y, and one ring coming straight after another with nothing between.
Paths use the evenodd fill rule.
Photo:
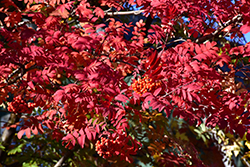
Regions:
<instances>
[{"instance_id":1,"label":"bright orange berry cluster in the middle of the red leaves","mask_svg":"<svg viewBox=\"0 0 250 167\"><path fill-rule=\"evenodd\" d=\"M139 78L138 80L135 80L135 82L131 85L132 89L139 95L142 95L146 92L153 92L157 88L161 86L161 82L157 81L155 82L148 76L144 78Z\"/></svg>"}]
</instances>

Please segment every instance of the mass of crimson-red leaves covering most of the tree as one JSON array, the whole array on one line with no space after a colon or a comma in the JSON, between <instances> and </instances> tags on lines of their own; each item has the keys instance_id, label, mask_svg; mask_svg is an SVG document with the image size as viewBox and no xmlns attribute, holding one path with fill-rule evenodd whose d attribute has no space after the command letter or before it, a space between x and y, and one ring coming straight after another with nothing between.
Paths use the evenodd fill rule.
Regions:
<instances>
[{"instance_id":1,"label":"mass of crimson-red leaves covering most of the tree","mask_svg":"<svg viewBox=\"0 0 250 167\"><path fill-rule=\"evenodd\" d=\"M136 22L129 40L124 36L132 23L106 19L103 10L105 5L122 10L124 0L101 0L100 7L87 0L25 0L25 10L5 2L0 9L7 15L0 29L0 103L12 94L8 110L29 118L18 138L46 127L66 147L96 142L103 158L132 162L140 144L129 135L128 115L153 109L194 126L205 120L206 126L250 140L249 92L228 91L222 84L228 78L218 70L232 64L232 55L249 60L250 45L216 41L250 31L249 2L126 1L161 20L149 26L148 35L147 23ZM185 39L178 43L179 37ZM125 82L132 75L138 79ZM43 112L31 116L35 106ZM172 153L162 157L163 165L187 159Z\"/></svg>"}]
</instances>

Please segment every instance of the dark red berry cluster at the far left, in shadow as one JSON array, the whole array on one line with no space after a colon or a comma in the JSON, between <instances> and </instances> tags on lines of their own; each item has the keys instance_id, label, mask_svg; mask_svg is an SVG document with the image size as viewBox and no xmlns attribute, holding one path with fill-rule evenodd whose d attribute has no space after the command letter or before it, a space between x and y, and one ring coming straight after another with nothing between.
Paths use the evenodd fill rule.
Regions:
<instances>
[{"instance_id":1,"label":"dark red berry cluster at the far left, in shadow","mask_svg":"<svg viewBox=\"0 0 250 167\"><path fill-rule=\"evenodd\" d=\"M13 98L13 100L8 103L8 110L15 113L31 113L35 107L35 103L26 102L22 99L21 95Z\"/></svg>"}]
</instances>

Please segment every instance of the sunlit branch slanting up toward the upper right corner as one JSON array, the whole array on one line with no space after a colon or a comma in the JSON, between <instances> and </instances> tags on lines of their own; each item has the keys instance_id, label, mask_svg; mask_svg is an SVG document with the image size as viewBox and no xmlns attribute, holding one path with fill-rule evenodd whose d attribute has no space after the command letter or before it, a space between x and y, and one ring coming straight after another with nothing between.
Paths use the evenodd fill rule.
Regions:
<instances>
[{"instance_id":1,"label":"sunlit branch slanting up toward the upper right corner","mask_svg":"<svg viewBox=\"0 0 250 167\"><path fill-rule=\"evenodd\" d=\"M215 36L218 36L225 27L229 26L230 24L240 22L241 20L242 20L242 14L238 14L238 15L234 16L231 20L228 20L227 22L225 22L220 28L218 28L213 33L206 35L206 36L203 36L203 37L200 37L200 38L196 39L195 42L196 43L203 43L208 39L211 39Z\"/></svg>"}]
</instances>

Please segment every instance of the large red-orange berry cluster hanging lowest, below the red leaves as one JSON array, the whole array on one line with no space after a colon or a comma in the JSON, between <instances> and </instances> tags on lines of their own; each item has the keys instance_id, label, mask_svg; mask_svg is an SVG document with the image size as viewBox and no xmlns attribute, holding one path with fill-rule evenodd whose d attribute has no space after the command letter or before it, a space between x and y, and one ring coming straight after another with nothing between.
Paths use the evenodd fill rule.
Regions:
<instances>
[{"instance_id":1,"label":"large red-orange berry cluster hanging lowest, below the red leaves","mask_svg":"<svg viewBox=\"0 0 250 167\"><path fill-rule=\"evenodd\" d=\"M105 159L116 159L119 156L121 160L128 162L132 162L130 155L136 154L138 145L137 141L125 135L119 135L118 137L109 136L108 138L102 137L101 141L98 140L95 144L99 156Z\"/></svg>"}]
</instances>

